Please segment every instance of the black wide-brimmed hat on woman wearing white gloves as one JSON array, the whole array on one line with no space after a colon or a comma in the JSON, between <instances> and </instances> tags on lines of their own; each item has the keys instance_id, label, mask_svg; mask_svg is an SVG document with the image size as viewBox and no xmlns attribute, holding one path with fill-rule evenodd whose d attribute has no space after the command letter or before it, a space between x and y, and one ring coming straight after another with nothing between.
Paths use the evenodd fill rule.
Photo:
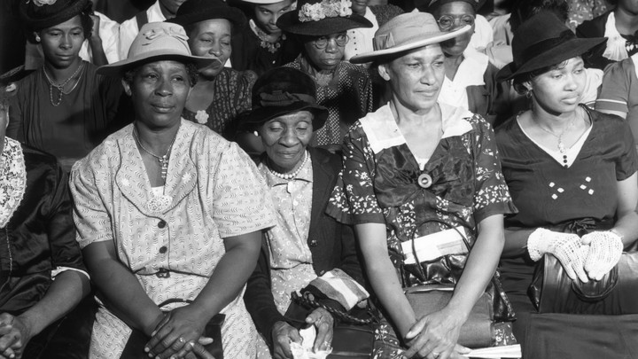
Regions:
<instances>
[{"instance_id":1,"label":"black wide-brimmed hat on woman wearing white gloves","mask_svg":"<svg viewBox=\"0 0 638 359\"><path fill-rule=\"evenodd\" d=\"M606 40L606 37L580 39L553 12L539 12L521 24L514 33L514 61L499 71L498 79L509 80L520 74L560 64L584 54Z\"/></svg>"}]
</instances>

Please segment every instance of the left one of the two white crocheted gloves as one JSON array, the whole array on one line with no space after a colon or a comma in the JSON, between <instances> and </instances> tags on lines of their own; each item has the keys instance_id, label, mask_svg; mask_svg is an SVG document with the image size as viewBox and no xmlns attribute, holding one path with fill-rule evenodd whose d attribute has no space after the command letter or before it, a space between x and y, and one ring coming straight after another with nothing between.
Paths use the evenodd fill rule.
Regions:
<instances>
[{"instance_id":1,"label":"left one of the two white crocheted gloves","mask_svg":"<svg viewBox=\"0 0 638 359\"><path fill-rule=\"evenodd\" d=\"M573 233L554 232L539 228L534 230L527 238L527 252L533 261L538 261L543 254L554 254L561 262L568 277L587 283L587 274L583 268L585 261L584 253L580 248L582 242L580 237Z\"/></svg>"}]
</instances>

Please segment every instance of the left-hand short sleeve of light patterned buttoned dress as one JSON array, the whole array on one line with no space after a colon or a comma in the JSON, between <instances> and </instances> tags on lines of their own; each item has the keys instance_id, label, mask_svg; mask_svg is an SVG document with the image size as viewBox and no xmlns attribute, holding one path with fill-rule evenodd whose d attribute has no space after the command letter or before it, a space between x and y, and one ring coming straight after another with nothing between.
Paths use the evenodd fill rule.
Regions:
<instances>
[{"instance_id":1,"label":"left-hand short sleeve of light patterned buttoned dress","mask_svg":"<svg viewBox=\"0 0 638 359\"><path fill-rule=\"evenodd\" d=\"M71 170L71 193L74 199L76 240L83 249L94 242L113 240L111 220L97 190L93 168L87 157Z\"/></svg>"}]
</instances>

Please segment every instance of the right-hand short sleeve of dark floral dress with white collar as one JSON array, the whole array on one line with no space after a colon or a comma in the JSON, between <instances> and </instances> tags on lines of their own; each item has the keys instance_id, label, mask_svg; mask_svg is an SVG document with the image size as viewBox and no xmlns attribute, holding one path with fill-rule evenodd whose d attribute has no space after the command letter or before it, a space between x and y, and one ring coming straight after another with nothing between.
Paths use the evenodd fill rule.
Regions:
<instances>
[{"instance_id":1,"label":"right-hand short sleeve of dark floral dress with white collar","mask_svg":"<svg viewBox=\"0 0 638 359\"><path fill-rule=\"evenodd\" d=\"M475 115L475 119L478 131L470 135L474 137L474 220L478 223L490 215L508 215L517 209L502 176L494 130L482 117Z\"/></svg>"}]
</instances>

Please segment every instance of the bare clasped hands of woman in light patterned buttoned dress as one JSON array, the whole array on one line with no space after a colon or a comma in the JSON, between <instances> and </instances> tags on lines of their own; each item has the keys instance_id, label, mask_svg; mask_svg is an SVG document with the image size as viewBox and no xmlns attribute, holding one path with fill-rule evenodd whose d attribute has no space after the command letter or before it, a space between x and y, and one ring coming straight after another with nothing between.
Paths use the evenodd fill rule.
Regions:
<instances>
[{"instance_id":1,"label":"bare clasped hands of woman in light patterned buttoned dress","mask_svg":"<svg viewBox=\"0 0 638 359\"><path fill-rule=\"evenodd\" d=\"M190 305L162 314L151 340L144 346L149 357L159 359L214 359L204 346L213 339L203 337L208 320Z\"/></svg>"}]
</instances>

